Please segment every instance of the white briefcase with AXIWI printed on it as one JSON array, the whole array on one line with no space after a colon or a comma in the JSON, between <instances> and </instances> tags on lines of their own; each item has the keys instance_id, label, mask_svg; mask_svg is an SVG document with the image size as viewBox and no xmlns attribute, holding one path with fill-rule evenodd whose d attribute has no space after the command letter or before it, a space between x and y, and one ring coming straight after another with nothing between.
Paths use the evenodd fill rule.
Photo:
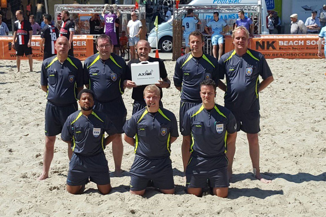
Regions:
<instances>
[{"instance_id":1,"label":"white briefcase with AXIWI printed on it","mask_svg":"<svg viewBox=\"0 0 326 217\"><path fill-rule=\"evenodd\" d=\"M160 67L158 62L142 61L131 64L131 79L137 86L158 83Z\"/></svg>"}]
</instances>

